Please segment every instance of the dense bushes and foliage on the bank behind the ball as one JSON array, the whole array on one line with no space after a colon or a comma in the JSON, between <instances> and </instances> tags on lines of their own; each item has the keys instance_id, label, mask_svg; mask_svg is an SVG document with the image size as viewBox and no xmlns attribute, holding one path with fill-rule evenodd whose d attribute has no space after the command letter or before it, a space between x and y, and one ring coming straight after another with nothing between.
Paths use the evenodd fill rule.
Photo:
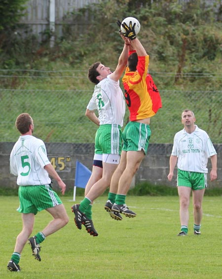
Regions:
<instances>
[{"instance_id":1,"label":"dense bushes and foliage on the bank behind the ball","mask_svg":"<svg viewBox=\"0 0 222 279\"><path fill-rule=\"evenodd\" d=\"M16 27L26 1L13 0L11 6L11 1L1 1L7 6L0 4L0 15L5 13L0 16L1 30ZM97 54L101 60L116 61L113 57L122 47L116 21L135 16L142 26L138 36L155 62L154 70L164 70L167 65L178 73L191 71L197 62L214 61L220 55L221 13L221 0L104 0L67 14L63 36L56 38L53 49L47 41L39 45L32 35L7 36L0 45L1 68L26 65L26 59L30 64L42 56L74 67L86 60L92 63ZM66 24L66 19L73 24Z\"/></svg>"}]
</instances>

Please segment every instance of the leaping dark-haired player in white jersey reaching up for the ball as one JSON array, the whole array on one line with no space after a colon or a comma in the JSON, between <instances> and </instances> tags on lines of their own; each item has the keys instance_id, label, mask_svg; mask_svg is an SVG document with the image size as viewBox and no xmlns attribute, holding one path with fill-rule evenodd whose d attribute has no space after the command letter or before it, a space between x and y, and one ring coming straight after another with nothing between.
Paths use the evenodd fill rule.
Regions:
<instances>
[{"instance_id":1,"label":"leaping dark-haired player in white jersey reaching up for the ball","mask_svg":"<svg viewBox=\"0 0 222 279\"><path fill-rule=\"evenodd\" d=\"M121 154L121 127L125 114L125 100L119 87L119 78L127 64L129 46L128 39L123 36L122 38L125 43L114 72L101 62L94 63L88 71L88 78L96 85L85 114L99 128L95 136L93 171L86 185L85 198L72 209L77 228L81 229L83 224L92 236L98 236L92 222L92 203L110 187L111 176L117 168ZM99 117L96 116L95 110L98 111ZM116 193L109 192L110 204L107 211L112 218L121 220L119 213L111 211L115 196Z\"/></svg>"}]
</instances>

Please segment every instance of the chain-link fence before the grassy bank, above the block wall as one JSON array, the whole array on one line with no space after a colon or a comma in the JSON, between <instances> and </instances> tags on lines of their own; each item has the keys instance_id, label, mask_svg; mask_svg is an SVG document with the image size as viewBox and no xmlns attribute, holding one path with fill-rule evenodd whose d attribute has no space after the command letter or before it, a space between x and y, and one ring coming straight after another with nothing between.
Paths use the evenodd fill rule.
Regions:
<instances>
[{"instance_id":1,"label":"chain-link fence before the grassy bank, above the block wall","mask_svg":"<svg viewBox=\"0 0 222 279\"><path fill-rule=\"evenodd\" d=\"M172 80L173 84L175 74L166 72L151 74L162 98L162 108L151 118L150 143L172 143L174 134L183 128L181 113L185 108L194 111L196 124L207 131L213 143L222 142L220 88L183 90L181 86L181 89L171 90L168 86L166 90L161 79L168 79L168 84ZM203 82L206 78L222 78L204 74L193 76L186 74L182 78L190 76L202 79ZM0 87L4 87L0 89L1 141L18 139L15 119L18 114L28 112L34 119L35 136L46 142L94 142L97 126L85 116L86 105L94 88L87 80L87 71L29 71L27 74L24 71L14 73L1 70L0 81L2 84ZM46 90L46 84L47 88L51 89ZM127 120L126 108L124 124Z\"/></svg>"}]
</instances>

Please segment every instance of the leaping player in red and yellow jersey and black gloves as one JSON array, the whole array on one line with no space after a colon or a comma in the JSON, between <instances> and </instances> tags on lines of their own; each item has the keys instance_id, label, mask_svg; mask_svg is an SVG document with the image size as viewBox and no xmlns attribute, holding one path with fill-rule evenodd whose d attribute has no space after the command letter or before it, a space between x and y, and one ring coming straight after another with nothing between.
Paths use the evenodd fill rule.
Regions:
<instances>
[{"instance_id":1,"label":"leaping player in red and yellow jersey and black gloves","mask_svg":"<svg viewBox=\"0 0 222 279\"><path fill-rule=\"evenodd\" d=\"M130 122L123 134L120 162L112 175L110 192L117 190L113 212L135 217L136 213L125 204L127 192L134 174L147 154L151 131L150 117L162 106L159 92L148 74L149 56L135 33L130 28L125 36L130 38L130 52L125 74L122 78L125 100L130 111Z\"/></svg>"}]
</instances>

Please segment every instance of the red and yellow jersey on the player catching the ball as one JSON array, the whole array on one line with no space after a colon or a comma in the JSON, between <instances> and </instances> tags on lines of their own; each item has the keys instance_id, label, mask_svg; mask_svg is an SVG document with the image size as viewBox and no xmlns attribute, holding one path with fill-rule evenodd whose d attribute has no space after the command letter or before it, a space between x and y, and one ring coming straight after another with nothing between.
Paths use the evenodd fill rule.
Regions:
<instances>
[{"instance_id":1,"label":"red and yellow jersey on the player catching the ball","mask_svg":"<svg viewBox=\"0 0 222 279\"><path fill-rule=\"evenodd\" d=\"M129 52L129 55L134 52ZM148 74L149 56L138 56L137 71L126 67L122 78L130 121L151 117L162 107L159 91Z\"/></svg>"}]
</instances>

